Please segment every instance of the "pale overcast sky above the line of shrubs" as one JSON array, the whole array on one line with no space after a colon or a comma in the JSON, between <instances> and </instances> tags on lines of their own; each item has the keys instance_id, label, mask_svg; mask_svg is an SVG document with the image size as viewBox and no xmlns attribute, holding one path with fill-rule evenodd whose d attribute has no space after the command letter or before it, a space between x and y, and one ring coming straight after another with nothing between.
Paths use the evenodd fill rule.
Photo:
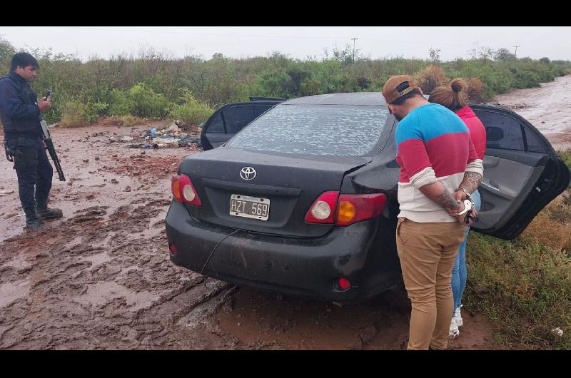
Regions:
<instances>
[{"instance_id":1,"label":"pale overcast sky above the line of shrubs","mask_svg":"<svg viewBox=\"0 0 571 378\"><path fill-rule=\"evenodd\" d=\"M223 53L233 58L266 56L323 58L325 48L353 46L365 57L428 58L440 49L443 61L470 58L477 46L505 47L517 56L571 60L570 26L0 26L0 37L16 48L49 48L83 61L141 50L175 58Z\"/></svg>"}]
</instances>

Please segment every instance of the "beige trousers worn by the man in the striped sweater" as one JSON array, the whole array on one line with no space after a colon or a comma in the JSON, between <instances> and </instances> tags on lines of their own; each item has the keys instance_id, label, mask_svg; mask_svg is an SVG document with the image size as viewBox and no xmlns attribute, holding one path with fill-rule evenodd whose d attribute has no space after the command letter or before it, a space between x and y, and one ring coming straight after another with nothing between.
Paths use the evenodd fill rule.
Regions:
<instances>
[{"instance_id":1,"label":"beige trousers worn by the man in the striped sweater","mask_svg":"<svg viewBox=\"0 0 571 378\"><path fill-rule=\"evenodd\" d=\"M446 349L454 301L450 280L464 225L398 218L396 240L412 305L407 349Z\"/></svg>"}]
</instances>

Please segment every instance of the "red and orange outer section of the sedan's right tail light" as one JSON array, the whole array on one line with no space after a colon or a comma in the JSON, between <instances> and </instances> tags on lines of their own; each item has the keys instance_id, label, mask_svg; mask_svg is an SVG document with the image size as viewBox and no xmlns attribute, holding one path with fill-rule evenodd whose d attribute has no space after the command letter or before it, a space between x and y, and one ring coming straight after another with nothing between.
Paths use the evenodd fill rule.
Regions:
<instances>
[{"instance_id":1,"label":"red and orange outer section of the sedan's right tail light","mask_svg":"<svg viewBox=\"0 0 571 378\"><path fill-rule=\"evenodd\" d=\"M347 226L375 218L385 209L384 194L342 194L339 195L335 225Z\"/></svg>"}]
</instances>

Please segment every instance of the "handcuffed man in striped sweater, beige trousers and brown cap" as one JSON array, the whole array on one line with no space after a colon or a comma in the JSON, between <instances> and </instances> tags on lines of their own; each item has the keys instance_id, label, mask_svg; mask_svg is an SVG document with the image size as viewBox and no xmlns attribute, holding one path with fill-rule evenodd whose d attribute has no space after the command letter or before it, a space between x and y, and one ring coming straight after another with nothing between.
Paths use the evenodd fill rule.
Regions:
<instances>
[{"instance_id":1,"label":"handcuffed man in striped sweater, beige trousers and brown cap","mask_svg":"<svg viewBox=\"0 0 571 378\"><path fill-rule=\"evenodd\" d=\"M396 130L400 165L396 231L403 280L412 305L408 349L446 349L453 312L450 277L470 201L458 200L482 180L470 132L444 106L429 103L411 76L392 76L383 86ZM468 217L468 224L472 220Z\"/></svg>"}]
</instances>

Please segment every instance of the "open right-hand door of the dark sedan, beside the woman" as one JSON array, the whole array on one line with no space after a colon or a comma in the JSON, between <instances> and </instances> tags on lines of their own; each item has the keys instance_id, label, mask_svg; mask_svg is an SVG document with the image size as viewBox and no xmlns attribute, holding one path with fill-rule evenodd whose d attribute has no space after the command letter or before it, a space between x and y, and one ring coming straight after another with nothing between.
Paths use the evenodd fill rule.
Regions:
<instances>
[{"instance_id":1,"label":"open right-hand door of the dark sedan, beside the woman","mask_svg":"<svg viewBox=\"0 0 571 378\"><path fill-rule=\"evenodd\" d=\"M502 130L501 137L487 140L478 188L480 220L473 229L513 239L565 190L570 173L547 139L521 116L492 106L472 108L487 130Z\"/></svg>"}]
</instances>

